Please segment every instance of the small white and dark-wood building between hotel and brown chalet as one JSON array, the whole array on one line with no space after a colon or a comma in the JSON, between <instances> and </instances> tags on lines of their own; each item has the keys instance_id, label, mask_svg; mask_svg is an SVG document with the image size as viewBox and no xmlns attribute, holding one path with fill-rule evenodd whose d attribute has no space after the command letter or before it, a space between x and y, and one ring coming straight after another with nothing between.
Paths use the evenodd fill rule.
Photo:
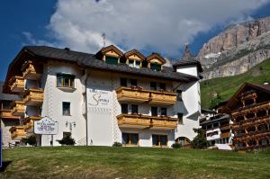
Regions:
<instances>
[{"instance_id":1,"label":"small white and dark-wood building between hotel and brown chalet","mask_svg":"<svg viewBox=\"0 0 270 179\"><path fill-rule=\"evenodd\" d=\"M206 139L211 146L215 144L232 144L230 130L230 117L228 114L215 111L202 110L200 125L206 131Z\"/></svg>"}]
</instances>

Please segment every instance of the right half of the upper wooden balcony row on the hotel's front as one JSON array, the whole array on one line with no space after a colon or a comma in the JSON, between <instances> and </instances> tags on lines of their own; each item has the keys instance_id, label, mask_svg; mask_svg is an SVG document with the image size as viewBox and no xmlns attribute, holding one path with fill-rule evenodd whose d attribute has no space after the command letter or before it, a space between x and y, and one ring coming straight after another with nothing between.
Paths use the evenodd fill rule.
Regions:
<instances>
[{"instance_id":1,"label":"right half of the upper wooden balcony row on the hotel's front","mask_svg":"<svg viewBox=\"0 0 270 179\"><path fill-rule=\"evenodd\" d=\"M172 92L150 91L150 104L172 105L176 103L176 94Z\"/></svg>"}]
</instances>

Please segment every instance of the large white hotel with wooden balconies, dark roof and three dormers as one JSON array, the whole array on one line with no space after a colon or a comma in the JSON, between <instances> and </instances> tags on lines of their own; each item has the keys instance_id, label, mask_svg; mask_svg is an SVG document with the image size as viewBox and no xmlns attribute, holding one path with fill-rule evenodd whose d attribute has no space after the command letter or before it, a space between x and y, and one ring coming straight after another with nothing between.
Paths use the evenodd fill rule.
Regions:
<instances>
[{"instance_id":1,"label":"large white hotel with wooden balconies, dark roof and three dormers","mask_svg":"<svg viewBox=\"0 0 270 179\"><path fill-rule=\"evenodd\" d=\"M191 58L186 48L185 56ZM192 59L192 58L191 58ZM45 46L24 47L10 64L4 93L20 94L13 115L33 135L33 121L58 121L58 134L35 135L40 146L58 146L71 134L76 145L170 147L187 144L196 134L201 114L199 62L165 67L153 53L122 53L109 46L96 54ZM18 135L14 135L17 133Z\"/></svg>"}]
</instances>

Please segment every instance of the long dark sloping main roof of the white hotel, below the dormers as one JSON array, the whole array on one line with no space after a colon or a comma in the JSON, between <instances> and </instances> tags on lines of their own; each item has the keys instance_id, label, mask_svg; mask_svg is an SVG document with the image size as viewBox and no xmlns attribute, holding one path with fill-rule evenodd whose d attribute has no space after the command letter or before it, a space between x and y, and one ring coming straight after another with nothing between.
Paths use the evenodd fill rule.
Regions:
<instances>
[{"instance_id":1,"label":"long dark sloping main roof of the white hotel, below the dormers","mask_svg":"<svg viewBox=\"0 0 270 179\"><path fill-rule=\"evenodd\" d=\"M175 81L197 81L198 77L185 75L182 73L175 72L173 67L163 67L162 71L154 71L152 69L142 67L134 68L129 67L126 64L122 65L111 65L105 63L103 60L95 58L94 54L88 54L84 52L73 51L70 49L58 49L47 46L26 46L24 49L34 56L49 59L58 59L74 62L83 67L90 67L95 69L103 69L120 73L129 73L140 76L152 76L160 77Z\"/></svg>"}]
</instances>

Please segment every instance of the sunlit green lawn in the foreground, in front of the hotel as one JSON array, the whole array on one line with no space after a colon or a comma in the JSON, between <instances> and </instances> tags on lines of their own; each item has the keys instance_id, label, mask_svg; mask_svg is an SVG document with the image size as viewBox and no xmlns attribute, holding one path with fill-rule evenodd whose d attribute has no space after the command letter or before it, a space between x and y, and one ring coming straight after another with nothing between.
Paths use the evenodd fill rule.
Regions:
<instances>
[{"instance_id":1,"label":"sunlit green lawn in the foreground, in front of the hotel","mask_svg":"<svg viewBox=\"0 0 270 179\"><path fill-rule=\"evenodd\" d=\"M270 150L172 148L4 149L0 178L270 178Z\"/></svg>"}]
</instances>

